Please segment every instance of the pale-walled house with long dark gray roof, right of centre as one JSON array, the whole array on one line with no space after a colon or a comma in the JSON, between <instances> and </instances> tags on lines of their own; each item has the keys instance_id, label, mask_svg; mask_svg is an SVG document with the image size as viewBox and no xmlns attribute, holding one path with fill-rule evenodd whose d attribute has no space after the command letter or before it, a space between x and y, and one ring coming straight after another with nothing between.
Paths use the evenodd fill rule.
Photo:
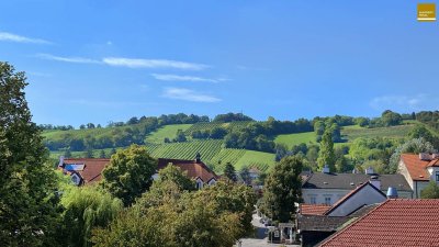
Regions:
<instances>
[{"instance_id":1,"label":"pale-walled house with long dark gray roof, right of centre","mask_svg":"<svg viewBox=\"0 0 439 247\"><path fill-rule=\"evenodd\" d=\"M397 190L399 198L413 198L413 190L403 175L378 175L372 168L368 168L364 173L335 173L329 168L323 172L303 173L302 198L306 204L333 205L352 189L368 181L383 193L392 187Z\"/></svg>"}]
</instances>

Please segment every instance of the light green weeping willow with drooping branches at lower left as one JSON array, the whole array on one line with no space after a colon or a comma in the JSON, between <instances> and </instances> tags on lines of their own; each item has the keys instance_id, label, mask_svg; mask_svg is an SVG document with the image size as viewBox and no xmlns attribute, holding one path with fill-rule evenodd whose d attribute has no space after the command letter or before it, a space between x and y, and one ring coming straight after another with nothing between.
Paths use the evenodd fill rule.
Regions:
<instances>
[{"instance_id":1,"label":"light green weeping willow with drooping branches at lower left","mask_svg":"<svg viewBox=\"0 0 439 247\"><path fill-rule=\"evenodd\" d=\"M122 211L123 204L97 187L72 187L64 191L61 238L65 246L91 246L91 231L105 227Z\"/></svg>"}]
</instances>

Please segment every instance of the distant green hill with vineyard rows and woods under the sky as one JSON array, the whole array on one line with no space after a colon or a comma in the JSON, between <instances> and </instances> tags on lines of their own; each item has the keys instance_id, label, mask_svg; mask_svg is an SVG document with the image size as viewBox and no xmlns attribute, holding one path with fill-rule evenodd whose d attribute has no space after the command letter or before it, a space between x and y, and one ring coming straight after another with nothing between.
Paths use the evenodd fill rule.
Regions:
<instances>
[{"instance_id":1,"label":"distant green hill with vineyard rows and woods under the sky","mask_svg":"<svg viewBox=\"0 0 439 247\"><path fill-rule=\"evenodd\" d=\"M234 121L234 117L243 121ZM394 123L390 126L383 126L386 124L380 122L380 119L369 120L337 115L315 117L313 121L301 119L294 122L277 121L272 117L258 122L248 116L235 116L233 113L224 114L218 119L232 122L206 122L209 121L206 117L188 116L180 113L171 115L171 117L162 115L132 119L127 123L111 124L106 127L45 130L43 136L53 158L58 158L60 155L110 157L115 149L138 144L146 146L150 155L156 158L193 159L195 154L200 153L203 161L221 173L227 162L233 164L237 169L246 166L258 167L260 170L267 171L275 164L277 159L299 150L307 155L306 158L309 161L307 165L315 167L315 154L306 153L313 146L317 147L315 151L318 151L318 132L314 131L317 122L335 123L339 126L340 138L338 143L335 143L335 147L347 147L344 149L345 155L349 153L349 146L357 138L378 138L373 141L375 143L387 142L386 148L391 148L386 150L386 155L389 155L387 153L406 139L417 125L426 126L434 135L437 135L436 128L430 124L430 119L428 123L416 120L395 122L394 119L391 119L390 121ZM176 122L177 124L173 124ZM327 126L329 125L327 124ZM382 138L384 141L380 141ZM389 142L391 143L389 144ZM301 146L297 149L301 144L308 148ZM357 153L359 151L357 150ZM375 156L380 156L380 159L385 162L382 155L376 154L368 159L371 157L373 159ZM346 157L352 158L352 156ZM364 157L353 158L357 161L351 161L350 167L357 166L358 160L364 160Z\"/></svg>"}]
</instances>

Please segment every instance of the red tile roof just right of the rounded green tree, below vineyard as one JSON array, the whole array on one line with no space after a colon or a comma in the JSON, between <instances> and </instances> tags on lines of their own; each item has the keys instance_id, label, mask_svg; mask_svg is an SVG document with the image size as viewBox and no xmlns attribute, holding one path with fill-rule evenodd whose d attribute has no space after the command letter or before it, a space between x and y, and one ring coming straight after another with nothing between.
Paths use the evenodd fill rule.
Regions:
<instances>
[{"instance_id":1,"label":"red tile roof just right of the rounded green tree, below vineyard","mask_svg":"<svg viewBox=\"0 0 439 247\"><path fill-rule=\"evenodd\" d=\"M209 182L212 179L218 180L218 176L215 175L204 162L196 162L195 160L183 160L183 159L158 159L157 170L160 170L172 164L180 167L182 171L187 171L191 178L200 178L203 182Z\"/></svg>"}]
</instances>

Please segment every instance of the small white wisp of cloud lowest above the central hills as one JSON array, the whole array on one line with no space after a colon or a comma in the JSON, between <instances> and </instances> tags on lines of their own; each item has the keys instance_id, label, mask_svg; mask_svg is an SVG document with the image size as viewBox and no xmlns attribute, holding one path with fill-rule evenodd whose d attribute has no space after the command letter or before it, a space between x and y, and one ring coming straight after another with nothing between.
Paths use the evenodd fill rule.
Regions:
<instances>
[{"instance_id":1,"label":"small white wisp of cloud lowest above the central hills","mask_svg":"<svg viewBox=\"0 0 439 247\"><path fill-rule=\"evenodd\" d=\"M221 99L216 97L204 94L202 92L196 92L185 88L165 88L162 97L175 100L185 100L185 101L207 102L207 103L214 103L221 101Z\"/></svg>"}]
</instances>

